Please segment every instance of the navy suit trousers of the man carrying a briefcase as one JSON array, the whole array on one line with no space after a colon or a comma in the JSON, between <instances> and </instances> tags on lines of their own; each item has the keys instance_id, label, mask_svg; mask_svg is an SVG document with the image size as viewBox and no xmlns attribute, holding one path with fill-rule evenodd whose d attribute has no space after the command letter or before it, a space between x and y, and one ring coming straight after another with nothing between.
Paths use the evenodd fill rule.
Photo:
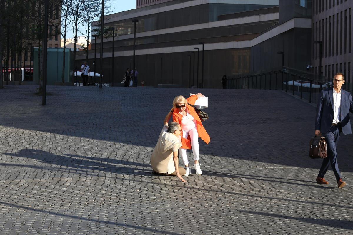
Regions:
<instances>
[{"instance_id":1,"label":"navy suit trousers of the man carrying a briefcase","mask_svg":"<svg viewBox=\"0 0 353 235\"><path fill-rule=\"evenodd\" d=\"M318 177L324 178L324 175L331 165L333 173L335 174L336 180L339 181L341 179L341 173L338 169L337 163L337 153L336 147L338 144L338 140L340 138L341 131L337 126L331 126L330 130L323 134L327 143L327 157L325 157L322 161L322 165L318 174Z\"/></svg>"}]
</instances>

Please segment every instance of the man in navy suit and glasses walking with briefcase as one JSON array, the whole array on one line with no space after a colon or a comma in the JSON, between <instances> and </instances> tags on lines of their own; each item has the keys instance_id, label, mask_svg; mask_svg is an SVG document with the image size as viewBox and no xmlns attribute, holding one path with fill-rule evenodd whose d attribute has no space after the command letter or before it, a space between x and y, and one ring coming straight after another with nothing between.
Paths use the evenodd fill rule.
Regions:
<instances>
[{"instance_id":1,"label":"man in navy suit and glasses walking with briefcase","mask_svg":"<svg viewBox=\"0 0 353 235\"><path fill-rule=\"evenodd\" d=\"M327 157L323 159L316 182L319 184L329 184L324 175L331 165L337 184L342 188L346 183L342 180L337 164L336 147L343 134L351 134L351 122L349 112L353 113L353 99L351 93L343 91L342 85L345 77L342 73L336 73L333 80L333 87L322 90L316 106L315 135L322 134L327 143Z\"/></svg>"}]
</instances>

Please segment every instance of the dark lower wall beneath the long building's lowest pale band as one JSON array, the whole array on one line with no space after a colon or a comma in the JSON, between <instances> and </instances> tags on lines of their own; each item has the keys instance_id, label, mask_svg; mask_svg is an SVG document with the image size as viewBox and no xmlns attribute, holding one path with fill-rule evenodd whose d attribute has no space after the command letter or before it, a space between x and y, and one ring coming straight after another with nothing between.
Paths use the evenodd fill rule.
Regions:
<instances>
[{"instance_id":1,"label":"dark lower wall beneath the long building's lowest pale band","mask_svg":"<svg viewBox=\"0 0 353 235\"><path fill-rule=\"evenodd\" d=\"M175 52L168 54L151 54L136 56L136 68L139 81L145 86L157 84L184 84L185 87L197 84L197 51L195 53L195 72L193 76L192 52ZM189 56L191 59L191 67ZM92 59L88 60L91 71L94 71ZM76 61L80 69L82 61ZM126 68L133 67L132 56L114 58L114 82L121 82ZM96 60L96 72L100 73L100 60ZM189 75L189 73L191 74ZM223 74L234 77L237 74L250 72L250 48L205 50L204 55L204 88L221 88ZM195 78L195 81L193 81ZM99 81L99 78L96 78ZM190 81L191 80L191 81ZM199 52L199 83L202 81L202 50ZM112 58L103 58L103 83L112 82Z\"/></svg>"}]
</instances>

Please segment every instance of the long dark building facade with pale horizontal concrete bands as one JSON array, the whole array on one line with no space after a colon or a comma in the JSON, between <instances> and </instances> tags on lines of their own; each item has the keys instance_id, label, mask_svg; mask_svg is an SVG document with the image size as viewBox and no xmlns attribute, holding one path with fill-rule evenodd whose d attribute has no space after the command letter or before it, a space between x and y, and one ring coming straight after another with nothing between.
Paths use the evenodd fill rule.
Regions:
<instances>
[{"instance_id":1,"label":"long dark building facade with pale horizontal concrete bands","mask_svg":"<svg viewBox=\"0 0 353 235\"><path fill-rule=\"evenodd\" d=\"M114 68L112 38L103 41L103 75L120 82L133 64L133 23L136 24L136 67L145 85L183 84L202 86L204 43L204 88L221 87L223 74L250 72L252 43L261 32L279 21L279 0L174 0L104 17L104 26L115 27ZM97 26L92 24L92 27ZM97 39L96 69L99 72L100 39ZM94 40L89 64L94 62ZM199 52L197 49L199 48ZM78 52L77 64L85 60ZM91 66L92 67L92 66ZM118 74L118 75L116 75ZM198 77L197 77L198 74ZM139 81L139 82L140 82Z\"/></svg>"}]
</instances>

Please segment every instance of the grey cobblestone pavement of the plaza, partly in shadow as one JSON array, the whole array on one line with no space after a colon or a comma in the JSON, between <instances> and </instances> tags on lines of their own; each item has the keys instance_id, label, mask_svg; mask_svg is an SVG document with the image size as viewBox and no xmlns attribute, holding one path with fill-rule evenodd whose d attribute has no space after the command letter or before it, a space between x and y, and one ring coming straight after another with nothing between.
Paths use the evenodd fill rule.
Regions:
<instances>
[{"instance_id":1,"label":"grey cobblestone pavement of the plaza, partly in shadow","mask_svg":"<svg viewBox=\"0 0 353 235\"><path fill-rule=\"evenodd\" d=\"M173 98L196 89L48 86L46 106L35 90L0 90L0 235L353 233L353 135L338 148L347 186L331 169L316 184L315 107L289 94L199 91L211 142L182 183L149 157Z\"/></svg>"}]
</instances>

